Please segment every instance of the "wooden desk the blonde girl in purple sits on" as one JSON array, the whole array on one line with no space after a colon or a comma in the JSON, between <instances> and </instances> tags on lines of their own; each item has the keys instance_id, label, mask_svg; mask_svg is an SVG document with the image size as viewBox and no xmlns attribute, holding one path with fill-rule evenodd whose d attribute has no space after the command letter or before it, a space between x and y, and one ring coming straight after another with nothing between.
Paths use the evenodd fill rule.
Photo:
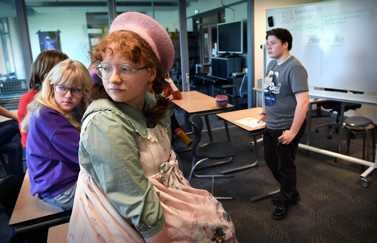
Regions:
<instances>
[{"instance_id":1,"label":"wooden desk the blonde girl in purple sits on","mask_svg":"<svg viewBox=\"0 0 377 243\"><path fill-rule=\"evenodd\" d=\"M34 229L49 228L69 222L71 213L72 211L61 211L46 203L39 202L37 196L31 196L29 170L26 170L9 226L15 226L16 234L21 234Z\"/></svg>"}]
</instances>

